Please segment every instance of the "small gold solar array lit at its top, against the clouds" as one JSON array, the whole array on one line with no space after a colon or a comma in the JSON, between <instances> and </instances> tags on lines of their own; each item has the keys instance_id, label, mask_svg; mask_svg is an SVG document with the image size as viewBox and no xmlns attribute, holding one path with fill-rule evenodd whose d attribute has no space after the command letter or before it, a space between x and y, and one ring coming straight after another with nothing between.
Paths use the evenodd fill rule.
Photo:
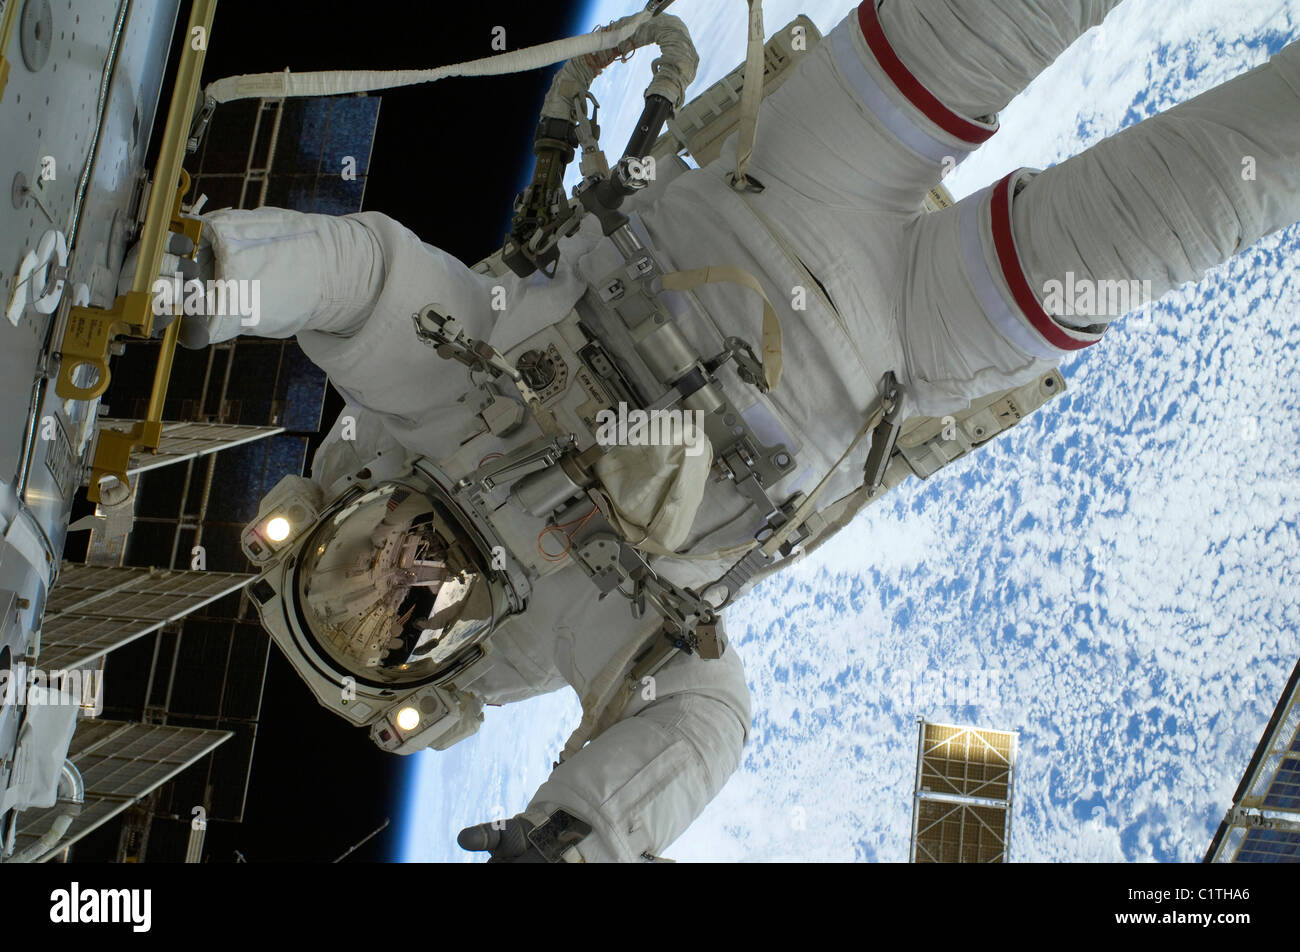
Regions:
<instances>
[{"instance_id":1,"label":"small gold solar array lit at its top, against the clouds","mask_svg":"<svg viewBox=\"0 0 1300 952\"><path fill-rule=\"evenodd\" d=\"M1005 862L1015 735L920 723L913 862Z\"/></svg>"}]
</instances>

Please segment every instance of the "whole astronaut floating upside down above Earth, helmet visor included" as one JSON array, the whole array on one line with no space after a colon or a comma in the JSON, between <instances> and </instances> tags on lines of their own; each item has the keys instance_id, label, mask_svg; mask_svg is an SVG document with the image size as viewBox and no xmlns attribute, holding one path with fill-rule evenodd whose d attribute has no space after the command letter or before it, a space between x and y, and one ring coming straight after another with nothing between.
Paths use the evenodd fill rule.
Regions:
<instances>
[{"instance_id":1,"label":"whole astronaut floating upside down above Earth, helmet visor included","mask_svg":"<svg viewBox=\"0 0 1300 952\"><path fill-rule=\"evenodd\" d=\"M662 631L672 639L664 606L672 614L682 605L675 597L703 592L746 554L779 567L809 527L824 533L846 523L836 518L842 506L823 510L861 492L872 451L879 464L889 449L883 425L959 414L1040 380L1065 355L1096 346L1122 316L1117 311L1145 303L1076 307L1080 299L1061 289L1136 281L1158 298L1300 220L1295 43L1058 166L1020 169L923 213L926 194L997 133L998 111L1118 1L866 0L763 100L741 187L729 181L732 142L718 161L630 205L636 239L623 247L586 218L560 243L552 277L471 271L374 212L204 216L216 274L260 281L261 315L254 328L207 317L200 337L296 336L347 401L313 460L311 484L299 486L326 514L295 550L300 567L316 568L315 580L300 574L295 584L306 613L298 623L315 631L318 654L335 670L354 665L361 680L369 671L372 681L396 688L411 665L428 675L439 658L481 639L484 650L458 662L428 705L468 711L436 747L472 731L481 704L566 685L582 698L584 724L526 809L463 831L463 847L490 851L497 861L663 853L737 769L750 723L741 662L724 644L706 650L698 637L689 645L696 650L676 650L653 675L628 680ZM1245 161L1253 176L1243 176ZM542 367L550 351L528 351L533 375L517 393L502 355L520 354L558 326L592 289L616 303L623 289L608 277L619 268L627 274L642 260L638 250L653 255L660 277L696 276L664 280L660 300L716 375L725 406L742 417L737 425L758 445L784 447L771 458L783 462L757 473L760 494L746 496L741 477L754 472L712 479L727 462L714 440L703 463L710 479L686 458L642 451L621 480L618 466L607 467L594 494L573 497L581 505L549 509L562 490L536 506L543 533L556 529L540 538L547 566L536 568L542 563L532 554L534 567L516 574L526 600L500 613L493 606L512 596L485 594L504 583L489 577L490 554L469 553L447 499L458 480L491 483L484 472L497 454L480 455L474 441L508 455L523 437L511 443L502 433L525 415L554 436L546 414L529 403L555 380L554 362ZM701 268L757 281L711 281ZM794 307L792 287L806 291L806 306ZM494 310L494 299L504 310ZM433 319L426 330L437 354L416 341L412 315L416 328L420 315ZM618 351L612 338L603 345ZM715 367L719 354L733 359ZM580 376L598 365L567 359ZM491 414L515 416L498 425L482 402L467 399L474 393ZM729 411L728 419L736 421ZM538 438L537 429L528 433ZM467 462L471 445L474 459ZM402 460L395 473L412 456L424 460L438 493L382 484L374 467L387 464L376 460ZM662 472L646 468L647 459ZM350 502L330 509L341 489ZM360 528L347 528L361 516ZM590 546L585 563L566 558L582 541L573 527L592 516L618 528L644 559L630 571L627 561L610 570L619 574L618 592L593 584ZM476 532L484 553L495 551L491 529L469 535ZM404 581L385 594L390 614L376 637L335 639L346 627L339 619L373 615L381 601L374 580L394 577L398 566ZM363 568L365 584L350 581ZM749 570L731 576L718 605L753 584ZM642 583L637 616L624 596ZM708 633L720 641L714 628Z\"/></svg>"}]
</instances>

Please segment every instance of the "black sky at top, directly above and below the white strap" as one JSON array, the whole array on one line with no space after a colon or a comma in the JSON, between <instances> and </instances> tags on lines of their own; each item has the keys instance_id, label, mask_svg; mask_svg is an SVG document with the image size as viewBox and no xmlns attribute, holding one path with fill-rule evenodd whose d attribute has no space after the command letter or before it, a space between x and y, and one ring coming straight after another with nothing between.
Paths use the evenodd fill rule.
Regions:
<instances>
[{"instance_id":1,"label":"black sky at top, directly above and below the white strap","mask_svg":"<svg viewBox=\"0 0 1300 952\"><path fill-rule=\"evenodd\" d=\"M491 56L578 29L582 3L367 4L222 0L203 82L292 69L429 69ZM386 90L365 211L474 263L500 246L515 194L532 172L532 135L552 69Z\"/></svg>"}]
</instances>

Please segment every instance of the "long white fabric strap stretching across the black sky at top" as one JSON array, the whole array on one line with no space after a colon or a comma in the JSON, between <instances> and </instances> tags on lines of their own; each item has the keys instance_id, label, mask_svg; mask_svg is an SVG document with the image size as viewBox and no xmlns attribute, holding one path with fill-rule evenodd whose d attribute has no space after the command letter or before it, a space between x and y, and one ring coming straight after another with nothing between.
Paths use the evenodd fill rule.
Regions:
<instances>
[{"instance_id":1,"label":"long white fabric strap stretching across the black sky at top","mask_svg":"<svg viewBox=\"0 0 1300 952\"><path fill-rule=\"evenodd\" d=\"M577 56L588 56L619 46L632 36L650 18L649 10L629 17L615 30L588 33L581 36L541 43L536 47L512 49L508 53L486 56L481 60L458 62L437 69L338 69L320 73L248 73L217 79L204 94L218 103L237 99L283 99L287 96L338 96L348 92L370 92L398 86L430 83L447 77L504 75L564 62Z\"/></svg>"}]
</instances>

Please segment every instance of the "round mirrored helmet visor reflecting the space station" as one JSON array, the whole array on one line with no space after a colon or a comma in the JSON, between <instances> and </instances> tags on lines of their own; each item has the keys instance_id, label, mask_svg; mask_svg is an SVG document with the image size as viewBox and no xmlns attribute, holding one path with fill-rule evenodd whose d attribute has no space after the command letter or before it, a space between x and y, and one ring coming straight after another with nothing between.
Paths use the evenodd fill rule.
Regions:
<instances>
[{"instance_id":1,"label":"round mirrored helmet visor reflecting the space station","mask_svg":"<svg viewBox=\"0 0 1300 952\"><path fill-rule=\"evenodd\" d=\"M428 678L491 624L480 563L422 493L386 485L317 528L299 570L312 635L335 663L390 683Z\"/></svg>"}]
</instances>

